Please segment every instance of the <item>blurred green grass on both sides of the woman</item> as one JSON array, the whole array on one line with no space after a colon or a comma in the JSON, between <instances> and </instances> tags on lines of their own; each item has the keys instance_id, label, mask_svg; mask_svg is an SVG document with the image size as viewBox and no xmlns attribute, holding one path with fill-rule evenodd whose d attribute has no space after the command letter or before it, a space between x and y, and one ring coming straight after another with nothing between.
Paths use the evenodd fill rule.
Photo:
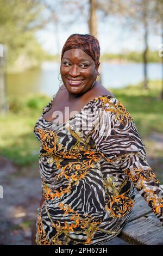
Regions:
<instances>
[{"instance_id":1,"label":"blurred green grass on both sides of the woman","mask_svg":"<svg viewBox=\"0 0 163 256\"><path fill-rule=\"evenodd\" d=\"M141 84L123 89L109 89L133 117L141 137L155 131L163 133L163 101L159 100L161 81L149 82L149 90ZM28 166L39 160L40 142L34 136L34 125L43 106L51 100L45 95L29 95L10 99L10 111L0 118L0 155L18 166Z\"/></svg>"}]
</instances>

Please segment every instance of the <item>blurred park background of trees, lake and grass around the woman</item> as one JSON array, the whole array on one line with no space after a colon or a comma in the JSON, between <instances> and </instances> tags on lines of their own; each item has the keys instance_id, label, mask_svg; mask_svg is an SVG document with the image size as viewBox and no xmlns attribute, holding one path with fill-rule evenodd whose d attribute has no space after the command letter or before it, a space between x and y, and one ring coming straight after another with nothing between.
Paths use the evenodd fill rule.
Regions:
<instances>
[{"instance_id":1,"label":"blurred park background of trees, lake and grass around the woman","mask_svg":"<svg viewBox=\"0 0 163 256\"><path fill-rule=\"evenodd\" d=\"M61 48L73 33L98 38L100 81L133 117L163 183L162 17L162 0L0 0L1 245L30 245L41 199L33 129L59 89Z\"/></svg>"}]
</instances>

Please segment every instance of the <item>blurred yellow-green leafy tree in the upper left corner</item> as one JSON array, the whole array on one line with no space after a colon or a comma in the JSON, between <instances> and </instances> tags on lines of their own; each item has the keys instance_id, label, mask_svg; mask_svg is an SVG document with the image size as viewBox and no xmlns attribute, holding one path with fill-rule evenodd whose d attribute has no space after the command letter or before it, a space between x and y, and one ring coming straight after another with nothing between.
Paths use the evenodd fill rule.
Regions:
<instances>
[{"instance_id":1,"label":"blurred yellow-green leafy tree in the upper left corner","mask_svg":"<svg viewBox=\"0 0 163 256\"><path fill-rule=\"evenodd\" d=\"M41 16L42 10L39 0L0 0L0 44L5 46L5 62L7 60L8 66L21 54L31 59L42 58L43 50L35 39L35 32L47 23ZM5 113L8 109L6 65L4 57L0 58L0 112Z\"/></svg>"}]
</instances>

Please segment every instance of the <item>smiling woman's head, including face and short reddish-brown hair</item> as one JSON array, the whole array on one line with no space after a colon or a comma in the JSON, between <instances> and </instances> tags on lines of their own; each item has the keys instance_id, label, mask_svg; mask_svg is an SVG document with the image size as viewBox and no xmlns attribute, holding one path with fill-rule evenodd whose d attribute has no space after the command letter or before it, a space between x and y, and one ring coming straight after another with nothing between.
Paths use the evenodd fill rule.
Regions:
<instances>
[{"instance_id":1,"label":"smiling woman's head, including face and short reddish-brown hair","mask_svg":"<svg viewBox=\"0 0 163 256\"><path fill-rule=\"evenodd\" d=\"M74 47L79 42L80 48ZM60 74L71 94L83 94L95 84L99 75L99 51L98 41L91 35L83 40L73 35L66 41L61 53Z\"/></svg>"}]
</instances>

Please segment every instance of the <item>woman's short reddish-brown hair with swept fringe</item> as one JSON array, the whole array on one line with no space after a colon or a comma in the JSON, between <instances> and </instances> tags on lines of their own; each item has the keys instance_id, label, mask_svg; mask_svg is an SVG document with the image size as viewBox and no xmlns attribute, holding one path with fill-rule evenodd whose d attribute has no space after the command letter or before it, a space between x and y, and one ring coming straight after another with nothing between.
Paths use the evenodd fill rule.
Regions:
<instances>
[{"instance_id":1,"label":"woman's short reddish-brown hair with swept fringe","mask_svg":"<svg viewBox=\"0 0 163 256\"><path fill-rule=\"evenodd\" d=\"M61 59L64 55L64 52L73 48L80 48L86 54L90 55L95 62L96 68L98 68L99 56L100 56L100 47L98 39L95 36L90 34L72 34L70 35L61 52Z\"/></svg>"}]
</instances>

